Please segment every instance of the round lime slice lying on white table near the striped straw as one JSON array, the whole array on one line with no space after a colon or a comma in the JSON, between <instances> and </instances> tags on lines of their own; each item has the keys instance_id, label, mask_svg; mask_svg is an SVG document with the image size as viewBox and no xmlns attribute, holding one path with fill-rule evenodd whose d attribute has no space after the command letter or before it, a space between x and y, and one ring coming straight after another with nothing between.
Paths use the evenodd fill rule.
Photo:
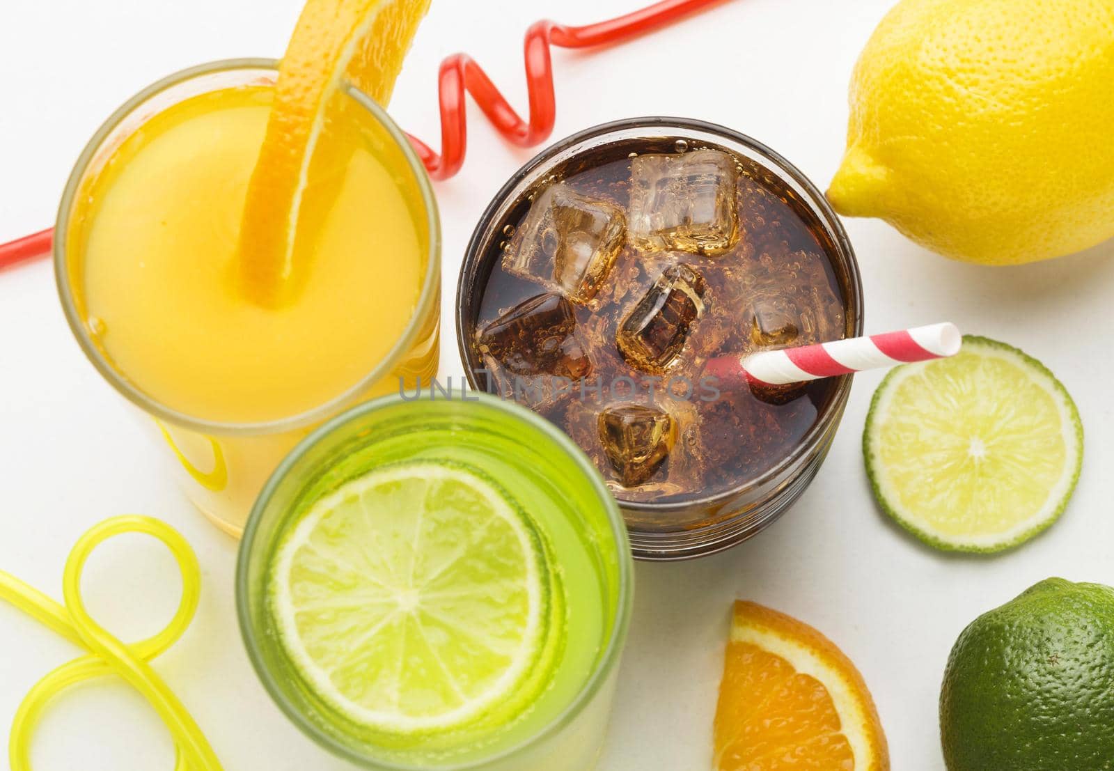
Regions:
<instances>
[{"instance_id":1,"label":"round lime slice lying on white table near the striped straw","mask_svg":"<svg viewBox=\"0 0 1114 771\"><path fill-rule=\"evenodd\" d=\"M968 335L951 359L886 377L862 449L874 496L899 525L940 549L1000 552L1063 514L1083 426L1040 362Z\"/></svg>"}]
</instances>

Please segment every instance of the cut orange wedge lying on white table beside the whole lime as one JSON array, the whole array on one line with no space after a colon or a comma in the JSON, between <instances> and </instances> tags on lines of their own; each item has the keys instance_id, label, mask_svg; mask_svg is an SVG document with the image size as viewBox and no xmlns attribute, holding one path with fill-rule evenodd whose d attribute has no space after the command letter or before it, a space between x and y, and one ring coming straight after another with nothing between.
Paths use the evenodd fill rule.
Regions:
<instances>
[{"instance_id":1,"label":"cut orange wedge lying on white table beside the whole lime","mask_svg":"<svg viewBox=\"0 0 1114 771\"><path fill-rule=\"evenodd\" d=\"M811 626L735 603L716 771L889 771L878 710L854 664Z\"/></svg>"}]
</instances>

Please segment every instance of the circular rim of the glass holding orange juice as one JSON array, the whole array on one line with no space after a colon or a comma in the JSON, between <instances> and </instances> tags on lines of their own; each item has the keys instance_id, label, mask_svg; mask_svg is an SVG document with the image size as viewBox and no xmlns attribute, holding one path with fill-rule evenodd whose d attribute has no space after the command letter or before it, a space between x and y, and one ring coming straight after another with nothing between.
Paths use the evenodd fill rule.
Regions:
<instances>
[{"instance_id":1,"label":"circular rim of the glass holding orange juice","mask_svg":"<svg viewBox=\"0 0 1114 771\"><path fill-rule=\"evenodd\" d=\"M426 172L424 165L418 157L418 154L414 152L413 146L410 144L402 129L399 128L387 111L371 97L364 95L354 86L346 84L345 89L349 96L355 99L361 107L368 110L368 113L370 113L371 116L384 129L387 129L387 133L394 140L395 145L398 145L398 147L402 150L407 165L413 172L414 179L421 191L422 207L426 213L426 226L429 232L429 252L426 256L426 277L418 295L418 303L402 334L394 342L387 354L380 359L356 383L326 402L317 404L309 410L291 416L275 418L273 420L235 422L208 420L206 418L199 418L197 416L179 412L178 410L164 404L128 380L127 377L119 369L117 369L94 343L91 336L89 335L89 331L86 328L85 320L79 318L75 304L74 287L70 282L68 270L69 262L66 255L66 242L67 231L69 230L68 225L74 209L74 201L77 196L78 187L81 179L85 177L90 163L104 146L105 140L128 116L133 115L149 99L168 91L172 88L186 84L189 80L209 75L218 75L222 72L246 72L250 70L267 70L276 72L278 62L275 59L221 59L218 61L211 61L178 70L137 92L118 107L105 120L105 123L100 125L89 141L85 145L85 148L81 150L77 162L74 164L74 168L66 182L66 187L62 192L62 197L58 205L58 214L55 221L55 238L52 247L55 284L58 291L59 300L61 301L62 311L66 315L66 321L86 358L92 363L97 371L100 372L101 377L107 380L114 389L116 389L117 392L148 414L152 414L159 420L165 420L176 426L202 433L219 436L258 436L281 433L322 420L326 416L330 416L343 407L354 402L369 387L390 373L390 371L394 369L394 367L398 365L398 363L403 359L407 351L410 349L410 345L414 342L414 339L421 331L426 315L431 309L437 310L434 306L437 304L437 297L441 283L441 223L440 216L438 215L437 198L433 195L432 183Z\"/></svg>"}]
</instances>

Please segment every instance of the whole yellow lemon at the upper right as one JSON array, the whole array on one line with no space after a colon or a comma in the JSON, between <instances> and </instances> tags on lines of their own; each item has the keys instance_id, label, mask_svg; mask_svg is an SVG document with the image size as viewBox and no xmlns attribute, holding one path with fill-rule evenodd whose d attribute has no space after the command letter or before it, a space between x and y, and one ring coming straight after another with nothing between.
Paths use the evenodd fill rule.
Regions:
<instances>
[{"instance_id":1,"label":"whole yellow lemon at the upper right","mask_svg":"<svg viewBox=\"0 0 1114 771\"><path fill-rule=\"evenodd\" d=\"M828 197L990 265L1114 236L1114 0L903 0L856 66Z\"/></svg>"}]
</instances>

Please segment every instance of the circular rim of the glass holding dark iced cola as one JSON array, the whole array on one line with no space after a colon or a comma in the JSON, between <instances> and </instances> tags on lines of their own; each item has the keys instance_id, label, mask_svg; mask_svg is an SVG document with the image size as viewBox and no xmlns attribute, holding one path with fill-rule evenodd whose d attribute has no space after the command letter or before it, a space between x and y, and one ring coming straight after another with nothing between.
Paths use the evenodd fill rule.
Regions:
<instances>
[{"instance_id":1,"label":"circular rim of the glass holding dark iced cola","mask_svg":"<svg viewBox=\"0 0 1114 771\"><path fill-rule=\"evenodd\" d=\"M812 180L810 180L797 166L758 139L720 124L698 120L695 118L666 116L622 118L619 120L612 120L597 126L588 127L543 149L511 175L502 187L499 188L499 192L495 194L495 197L483 209L483 214L480 215L476 230L472 231L472 236L465 251L465 258L461 262L460 273L457 280L457 347L460 352L461 361L465 364L465 375L468 378L469 386L473 389L479 389L475 374L477 362L472 355L471 341L467 339L465 332L469 325L468 311L472 310L476 297L466 297L465 290L466 286L469 290L473 289L471 282L469 281L469 276L473 275L476 270L479 267L486 251L485 246L487 245L487 242L491 241L490 236L494 233L494 226L498 224L497 217L505 214L505 206L516 199L518 195L524 193L544 174L551 170L558 163L573 158L583 149L587 149L585 147L579 147L586 143L594 139L600 139L612 134L620 135L622 133L629 130L667 130L671 128L702 133L711 135L712 137L719 137L720 139L736 143L737 145L755 153L762 160L769 162L769 164L771 164L778 172L788 177L785 180L791 185L797 185L799 188L798 192L803 194L804 203L814 208L814 214L818 215L817 218L824 231L827 231L828 235L832 238L832 242L836 244L837 251L839 252L838 256L843 266L847 269L848 281L843 282L840 280L839 283L841 287L846 284L846 290L849 294L848 310L854 311L853 319L850 318L852 315L851 313L848 314L849 321L851 322L852 333L856 336L862 334L862 276L859 271L859 263L856 258L854 250L851 246L851 241L847 235L847 231L843 228L842 222L840 222L836 212L828 203L828 199L812 183ZM665 502L620 499L619 506L626 510L641 514L661 515L680 513L694 506L709 507L716 506L717 504L730 502L746 490L761 488L763 485L775 480L785 471L785 469L790 468L793 463L803 458L818 445L818 442L821 442L829 430L829 427L841 418L843 407L851 393L852 378L853 375L851 374L843 374L834 379L837 381L836 389L832 391L831 398L829 398L818 411L817 419L813 421L809 430L803 437L801 437L801 440L793 447L791 452L786 453L781 460L778 461L778 463L761 475L719 492L698 497L694 496L683 500ZM727 548L730 545L726 545L723 548Z\"/></svg>"}]
</instances>

